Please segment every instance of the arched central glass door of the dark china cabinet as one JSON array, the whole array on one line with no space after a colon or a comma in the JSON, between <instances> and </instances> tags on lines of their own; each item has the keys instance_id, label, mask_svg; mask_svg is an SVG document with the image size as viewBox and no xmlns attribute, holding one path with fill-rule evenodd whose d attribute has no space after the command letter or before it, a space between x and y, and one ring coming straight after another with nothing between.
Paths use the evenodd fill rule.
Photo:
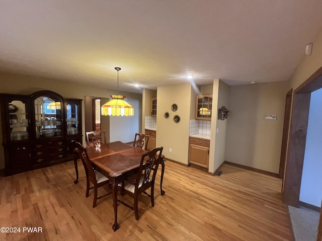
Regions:
<instances>
[{"instance_id":1,"label":"arched central glass door of the dark china cabinet","mask_svg":"<svg viewBox=\"0 0 322 241\"><path fill-rule=\"evenodd\" d=\"M36 139L62 136L62 101L53 96L39 96L34 106Z\"/></svg>"}]
</instances>

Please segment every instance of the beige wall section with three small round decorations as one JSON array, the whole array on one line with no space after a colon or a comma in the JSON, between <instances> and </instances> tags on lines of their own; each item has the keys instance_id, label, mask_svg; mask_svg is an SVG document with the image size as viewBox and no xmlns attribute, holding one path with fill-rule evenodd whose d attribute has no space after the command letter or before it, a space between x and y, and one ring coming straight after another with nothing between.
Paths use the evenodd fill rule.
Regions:
<instances>
[{"instance_id":1,"label":"beige wall section with three small round decorations","mask_svg":"<svg viewBox=\"0 0 322 241\"><path fill-rule=\"evenodd\" d=\"M171 110L171 105L178 105L177 111ZM156 146L163 146L166 158L188 164L189 124L190 124L191 84L177 84L157 88L156 114ZM169 118L164 117L165 112ZM180 116L180 122L175 123L173 117ZM172 148L172 152L169 152Z\"/></svg>"}]
</instances>

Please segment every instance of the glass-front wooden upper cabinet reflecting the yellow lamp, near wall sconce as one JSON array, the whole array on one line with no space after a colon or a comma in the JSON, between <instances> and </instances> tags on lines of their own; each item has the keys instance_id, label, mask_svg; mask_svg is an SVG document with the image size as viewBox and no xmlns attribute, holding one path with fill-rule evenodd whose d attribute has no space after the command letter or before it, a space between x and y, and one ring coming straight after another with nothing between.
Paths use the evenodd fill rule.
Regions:
<instances>
[{"instance_id":1,"label":"glass-front wooden upper cabinet reflecting the yellow lamp, near wall sconce","mask_svg":"<svg viewBox=\"0 0 322 241\"><path fill-rule=\"evenodd\" d=\"M212 94L197 95L196 98L196 119L211 119L212 115Z\"/></svg>"}]
</instances>

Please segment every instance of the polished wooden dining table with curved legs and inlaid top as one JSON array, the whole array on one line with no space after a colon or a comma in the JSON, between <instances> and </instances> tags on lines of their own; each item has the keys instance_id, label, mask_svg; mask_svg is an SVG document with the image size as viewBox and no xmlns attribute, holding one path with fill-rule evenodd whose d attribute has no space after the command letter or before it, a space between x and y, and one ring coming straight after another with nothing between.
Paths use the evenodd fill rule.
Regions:
<instances>
[{"instance_id":1,"label":"polished wooden dining table with curved legs and inlaid top","mask_svg":"<svg viewBox=\"0 0 322 241\"><path fill-rule=\"evenodd\" d=\"M87 147L86 150L95 169L108 177L111 182L114 208L114 224L112 228L114 231L116 231L119 228L117 223L118 184L121 183L125 177L137 172L137 169L140 166L142 154L146 151L119 141L101 144L100 146L96 147L90 146ZM75 152L74 165L76 180L74 183L78 182L77 159L79 159L79 156L78 153ZM165 191L162 190L162 182L165 172L165 163L163 158L160 160L160 165L162 167L160 191L161 195L164 195Z\"/></svg>"}]
</instances>

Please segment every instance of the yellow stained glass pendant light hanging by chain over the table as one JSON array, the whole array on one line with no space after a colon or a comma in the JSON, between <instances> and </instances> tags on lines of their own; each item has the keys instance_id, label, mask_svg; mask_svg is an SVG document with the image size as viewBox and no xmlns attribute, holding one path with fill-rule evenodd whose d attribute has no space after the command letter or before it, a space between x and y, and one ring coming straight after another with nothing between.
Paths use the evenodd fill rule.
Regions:
<instances>
[{"instance_id":1,"label":"yellow stained glass pendant light hanging by chain over the table","mask_svg":"<svg viewBox=\"0 0 322 241\"><path fill-rule=\"evenodd\" d=\"M115 69L117 71L117 94L110 95L112 99L109 102L102 105L101 114L132 116L134 115L133 106L124 100L125 96L119 95L119 71L121 70L121 68L115 67Z\"/></svg>"}]
</instances>

